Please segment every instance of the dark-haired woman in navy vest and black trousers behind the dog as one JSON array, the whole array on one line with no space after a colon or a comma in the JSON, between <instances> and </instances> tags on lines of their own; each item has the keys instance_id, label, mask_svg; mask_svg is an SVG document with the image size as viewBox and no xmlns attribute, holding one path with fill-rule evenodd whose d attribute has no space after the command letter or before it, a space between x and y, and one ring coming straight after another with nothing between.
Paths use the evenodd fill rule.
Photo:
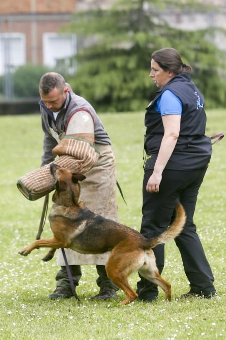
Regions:
<instances>
[{"instance_id":1,"label":"dark-haired woman in navy vest and black trousers behind the dog","mask_svg":"<svg viewBox=\"0 0 226 340\"><path fill-rule=\"evenodd\" d=\"M184 206L187 221L175 239L190 291L181 298L216 295L213 274L193 221L198 190L212 153L205 136L204 98L191 81L192 68L185 65L175 49L155 51L150 77L159 88L145 114L145 174L141 233L152 238L174 219L175 202ZM164 245L153 249L161 274ZM140 276L139 299L151 302L158 297L157 286Z\"/></svg>"}]
</instances>

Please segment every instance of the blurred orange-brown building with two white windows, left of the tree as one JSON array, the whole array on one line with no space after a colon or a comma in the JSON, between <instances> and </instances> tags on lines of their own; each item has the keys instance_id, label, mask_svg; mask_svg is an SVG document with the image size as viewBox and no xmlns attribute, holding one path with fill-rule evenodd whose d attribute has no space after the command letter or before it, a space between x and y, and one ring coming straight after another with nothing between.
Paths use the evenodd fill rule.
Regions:
<instances>
[{"instance_id":1,"label":"blurred orange-brown building with two white windows, left of the tree","mask_svg":"<svg viewBox=\"0 0 226 340\"><path fill-rule=\"evenodd\" d=\"M26 63L54 67L76 53L76 37L59 33L75 0L0 1L0 75Z\"/></svg>"}]
</instances>

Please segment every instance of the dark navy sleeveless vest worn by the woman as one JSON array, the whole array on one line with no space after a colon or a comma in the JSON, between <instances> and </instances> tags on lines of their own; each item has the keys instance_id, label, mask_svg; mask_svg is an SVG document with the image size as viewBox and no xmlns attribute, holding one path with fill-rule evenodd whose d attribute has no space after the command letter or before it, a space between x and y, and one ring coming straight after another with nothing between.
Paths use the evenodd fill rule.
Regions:
<instances>
[{"instance_id":1,"label":"dark navy sleeveless vest worn by the woman","mask_svg":"<svg viewBox=\"0 0 226 340\"><path fill-rule=\"evenodd\" d=\"M165 90L171 90L182 102L180 133L165 169L197 170L208 167L212 153L210 138L205 136L206 113L204 97L191 81L189 73L171 79L157 94L145 114L145 169L153 169L159 153L164 128L161 114L154 109Z\"/></svg>"}]
</instances>

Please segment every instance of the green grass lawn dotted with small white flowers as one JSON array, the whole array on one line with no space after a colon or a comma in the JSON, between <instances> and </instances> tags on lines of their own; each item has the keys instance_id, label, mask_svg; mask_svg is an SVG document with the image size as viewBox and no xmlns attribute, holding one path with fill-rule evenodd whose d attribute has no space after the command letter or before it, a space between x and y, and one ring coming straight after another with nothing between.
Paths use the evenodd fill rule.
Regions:
<instances>
[{"instance_id":1,"label":"green grass lawn dotted with small white flowers","mask_svg":"<svg viewBox=\"0 0 226 340\"><path fill-rule=\"evenodd\" d=\"M113 141L117 178L126 206L118 195L122 223L140 229L143 177L144 114L100 116ZM189 289L178 249L166 245L162 273L172 284L173 300L153 304L138 301L120 306L116 300L91 302L97 292L95 266L82 266L76 300L48 300L55 288L58 270L55 258L44 263L45 249L28 257L18 251L35 239L43 199L27 201L16 188L16 180L40 165L42 131L40 117L0 117L0 338L1 339L225 339L225 239L226 239L226 139L213 146L213 155L197 203L195 222L215 276L219 298L181 301ZM226 110L208 112L207 135L226 132ZM51 236L49 223L42 237ZM137 273L129 278L135 289Z\"/></svg>"}]
</instances>

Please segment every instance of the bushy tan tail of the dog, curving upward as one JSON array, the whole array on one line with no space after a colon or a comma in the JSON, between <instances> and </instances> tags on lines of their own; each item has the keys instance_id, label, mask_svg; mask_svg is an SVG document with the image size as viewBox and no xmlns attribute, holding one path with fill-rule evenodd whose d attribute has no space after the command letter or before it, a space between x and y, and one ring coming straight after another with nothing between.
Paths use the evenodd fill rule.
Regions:
<instances>
[{"instance_id":1,"label":"bushy tan tail of the dog, curving upward","mask_svg":"<svg viewBox=\"0 0 226 340\"><path fill-rule=\"evenodd\" d=\"M166 243L173 238L176 238L180 234L186 222L186 214L182 204L180 204L179 202L176 203L175 210L176 216L170 226L159 236L148 239L149 248L154 248L158 244Z\"/></svg>"}]
</instances>

